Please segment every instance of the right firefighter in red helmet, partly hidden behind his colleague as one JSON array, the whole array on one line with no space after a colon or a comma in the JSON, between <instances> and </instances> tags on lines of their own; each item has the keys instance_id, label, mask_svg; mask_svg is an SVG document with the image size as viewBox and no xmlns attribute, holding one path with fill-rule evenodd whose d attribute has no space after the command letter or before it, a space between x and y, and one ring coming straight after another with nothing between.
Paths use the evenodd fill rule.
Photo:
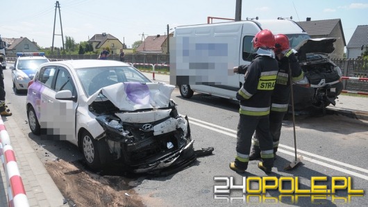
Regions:
<instances>
[{"instance_id":1,"label":"right firefighter in red helmet, partly hidden behind his colleague","mask_svg":"<svg viewBox=\"0 0 368 207\"><path fill-rule=\"evenodd\" d=\"M289 38L286 35L275 35L276 60L278 60L278 74L274 92L271 96L271 112L269 113L269 130L271 131L272 140L274 142L274 158L276 159L276 151L281 135L281 126L283 118L287 113L290 102L290 78L289 69L292 70L292 82L296 83L303 80L304 74L298 59L295 57L294 50L290 49ZM253 135L253 147L249 160L261 158L261 151L258 141L259 133Z\"/></svg>"}]
</instances>

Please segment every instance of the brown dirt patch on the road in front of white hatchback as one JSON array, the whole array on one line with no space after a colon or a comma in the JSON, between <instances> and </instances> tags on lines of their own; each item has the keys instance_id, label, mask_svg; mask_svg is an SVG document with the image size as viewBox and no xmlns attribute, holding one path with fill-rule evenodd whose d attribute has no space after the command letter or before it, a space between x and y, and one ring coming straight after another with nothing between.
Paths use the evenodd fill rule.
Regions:
<instances>
[{"instance_id":1,"label":"brown dirt patch on the road in front of white hatchback","mask_svg":"<svg viewBox=\"0 0 368 207\"><path fill-rule=\"evenodd\" d=\"M82 163L56 160L44 163L69 206L144 206L142 198L122 176L101 176Z\"/></svg>"}]
</instances>

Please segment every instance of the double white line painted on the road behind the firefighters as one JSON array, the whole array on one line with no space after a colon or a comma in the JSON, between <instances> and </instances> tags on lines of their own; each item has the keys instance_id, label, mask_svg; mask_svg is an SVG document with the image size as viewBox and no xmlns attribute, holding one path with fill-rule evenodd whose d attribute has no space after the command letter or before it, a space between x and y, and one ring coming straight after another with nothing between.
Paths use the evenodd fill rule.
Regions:
<instances>
[{"instance_id":1,"label":"double white line painted on the road behind the firefighters","mask_svg":"<svg viewBox=\"0 0 368 207\"><path fill-rule=\"evenodd\" d=\"M210 130L212 130L212 131L216 131L216 132L218 132L218 133L223 133L224 135L231 136L232 138L237 138L236 134L233 134L233 133L236 133L236 131L235 131L235 130L227 129L227 128L223 127L223 126L218 126L218 125L216 125L216 124L212 124L212 123L209 123L209 122L204 122L204 121L201 121L201 120L199 120L199 119L194 119L194 118L192 118L192 117L189 117L189 119L190 119L190 120L192 120L192 121L190 122L190 124L194 124L194 125L197 125L197 126L201 126L201 127L203 127L203 128L210 129ZM193 122L193 121L196 121L196 122ZM203 124L200 124L200 123L197 123L197 122L201 122L201 123L203 123ZM204 124L208 124L208 125L210 125L210 126L206 126L206 125L204 125ZM216 128L212 128L211 126L215 126ZM228 132L226 132L226 131L221 131L220 129L223 129L223 130L226 130L226 131L231 131L231 132L233 132L233 133L228 133ZM279 147L284 147L284 148L286 148L286 149L290 149L290 150L294 151L294 147L289 147L289 146L284 145L284 144L278 144L278 146L279 146ZM310 152L308 152L308 151L303 151L303 150L301 150L301 149L296 149L296 150L297 150L298 152L300 152L300 153L302 153L302 154L306 154L306 155L308 155L308 156L312 156L312 157L315 157L315 158L319 158L319 159L321 159L321 160L326 160L326 161L328 161L328 162L335 163L335 164L337 164L337 165L342 165L342 166L344 166L344 167L349 167L349 168L351 168L351 169L356 169L356 170L358 170L358 171L361 171L361 172L367 172L367 173L368 173L368 170L367 170L367 169L363 169L363 168L361 168L361 167L356 167L356 166L354 166L354 165L349 165L349 164L347 164L347 163L342 163L342 162L340 162L340 161L333 160L333 159L331 159L331 158L326 158L326 157L324 157L324 156L319 156L319 155L317 155L317 154L312 154L312 153L310 153ZM285 153L285 154L290 154L290 155L294 156L294 153L293 153L293 152L285 151L285 150L283 150L283 149L281 149L281 152L283 152L283 153ZM304 157L304 156L303 156L303 157ZM329 167L329 168L331 168L331 169L336 169L337 171L344 172L344 173L351 174L351 175L355 175L355 176L358 176L358 177L360 177L360 178L362 178L362 179L366 179L366 180L368 180L368 176L365 176L365 175L362 175L362 174L358 174L358 173L356 173L356 172L352 172L352 171L350 171L350 170L343 169L343 168L341 168L341 167L337 167L337 166L334 166L334 165L330 165L330 164L328 164L328 163L324 163L324 162L321 162L321 161L319 161L319 160L315 160L315 159L313 159L313 158L306 158L306 157L305 157L305 160L308 160L308 161L310 161L310 162L312 162L312 163L317 163L317 164L319 164L319 165L326 166L326 167Z\"/></svg>"}]
</instances>

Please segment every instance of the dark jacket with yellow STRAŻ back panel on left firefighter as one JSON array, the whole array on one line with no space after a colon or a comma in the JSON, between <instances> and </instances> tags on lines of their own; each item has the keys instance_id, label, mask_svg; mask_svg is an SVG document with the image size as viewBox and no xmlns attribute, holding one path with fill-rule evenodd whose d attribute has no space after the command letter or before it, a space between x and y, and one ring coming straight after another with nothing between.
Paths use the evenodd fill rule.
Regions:
<instances>
[{"instance_id":1,"label":"dark jacket with yellow STRA\u017b back panel on left firefighter","mask_svg":"<svg viewBox=\"0 0 368 207\"><path fill-rule=\"evenodd\" d=\"M258 55L249 65L244 84L237 92L239 113L250 116L269 115L278 63L273 56Z\"/></svg>"}]
</instances>

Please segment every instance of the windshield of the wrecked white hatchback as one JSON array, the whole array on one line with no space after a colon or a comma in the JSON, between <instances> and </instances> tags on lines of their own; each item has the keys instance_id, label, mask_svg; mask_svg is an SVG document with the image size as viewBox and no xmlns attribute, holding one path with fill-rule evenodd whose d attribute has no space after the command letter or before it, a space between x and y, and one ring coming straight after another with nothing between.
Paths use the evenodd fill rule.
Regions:
<instances>
[{"instance_id":1,"label":"windshield of the wrecked white hatchback","mask_svg":"<svg viewBox=\"0 0 368 207\"><path fill-rule=\"evenodd\" d=\"M87 67L76 69L83 90L88 97L100 88L115 83L140 82L150 83L149 78L141 74L134 67Z\"/></svg>"}]
</instances>

